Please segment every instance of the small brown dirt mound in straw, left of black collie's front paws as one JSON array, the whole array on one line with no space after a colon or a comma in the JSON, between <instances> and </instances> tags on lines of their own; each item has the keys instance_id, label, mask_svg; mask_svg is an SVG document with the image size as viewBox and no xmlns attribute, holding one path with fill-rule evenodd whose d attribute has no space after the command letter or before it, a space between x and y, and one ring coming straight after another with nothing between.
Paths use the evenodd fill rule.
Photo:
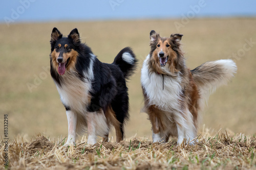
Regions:
<instances>
[{"instance_id":1,"label":"small brown dirt mound in straw, left of black collie's front paws","mask_svg":"<svg viewBox=\"0 0 256 170\"><path fill-rule=\"evenodd\" d=\"M45 136L40 136L36 138L34 141L28 143L26 145L27 149L32 151L33 153L39 150L49 151L54 147L54 143L49 141Z\"/></svg>"}]
</instances>

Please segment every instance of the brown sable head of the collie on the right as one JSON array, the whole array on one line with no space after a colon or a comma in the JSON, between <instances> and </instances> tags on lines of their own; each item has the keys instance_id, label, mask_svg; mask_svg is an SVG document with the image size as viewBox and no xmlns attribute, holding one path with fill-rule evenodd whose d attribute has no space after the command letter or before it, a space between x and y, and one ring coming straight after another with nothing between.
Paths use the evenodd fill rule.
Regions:
<instances>
[{"instance_id":1,"label":"brown sable head of the collie on the right","mask_svg":"<svg viewBox=\"0 0 256 170\"><path fill-rule=\"evenodd\" d=\"M150 62L158 74L175 75L184 65L181 50L182 34L172 34L170 37L160 37L154 30L150 32Z\"/></svg>"}]
</instances>

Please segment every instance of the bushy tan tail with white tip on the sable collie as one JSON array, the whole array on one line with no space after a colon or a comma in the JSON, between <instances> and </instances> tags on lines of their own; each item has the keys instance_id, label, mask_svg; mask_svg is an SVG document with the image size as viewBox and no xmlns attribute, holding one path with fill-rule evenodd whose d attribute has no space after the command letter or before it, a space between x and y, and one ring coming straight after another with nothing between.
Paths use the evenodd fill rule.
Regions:
<instances>
[{"instance_id":1,"label":"bushy tan tail with white tip on the sable collie","mask_svg":"<svg viewBox=\"0 0 256 170\"><path fill-rule=\"evenodd\" d=\"M237 71L237 65L232 60L217 60L206 62L191 70L201 96L207 101L209 95L219 86L226 85Z\"/></svg>"}]
</instances>

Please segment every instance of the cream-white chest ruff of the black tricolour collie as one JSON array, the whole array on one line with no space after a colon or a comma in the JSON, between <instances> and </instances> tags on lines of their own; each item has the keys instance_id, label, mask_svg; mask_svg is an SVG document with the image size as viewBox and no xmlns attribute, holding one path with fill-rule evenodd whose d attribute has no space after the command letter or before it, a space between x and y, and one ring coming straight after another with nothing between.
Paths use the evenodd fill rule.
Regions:
<instances>
[{"instance_id":1,"label":"cream-white chest ruff of the black tricolour collie","mask_svg":"<svg viewBox=\"0 0 256 170\"><path fill-rule=\"evenodd\" d=\"M85 82L83 82L70 72L67 72L61 78L63 78L61 87L56 85L61 102L79 114L85 113L90 102L90 80L85 79Z\"/></svg>"}]
</instances>

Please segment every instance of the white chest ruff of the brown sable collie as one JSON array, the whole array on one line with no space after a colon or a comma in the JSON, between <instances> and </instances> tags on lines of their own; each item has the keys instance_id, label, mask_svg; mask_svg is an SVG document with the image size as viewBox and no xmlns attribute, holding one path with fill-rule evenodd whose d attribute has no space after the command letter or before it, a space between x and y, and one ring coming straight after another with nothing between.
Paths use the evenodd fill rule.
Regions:
<instances>
[{"instance_id":1,"label":"white chest ruff of the brown sable collie","mask_svg":"<svg viewBox=\"0 0 256 170\"><path fill-rule=\"evenodd\" d=\"M171 77L164 75L163 89L163 77L150 70L151 68L148 67L149 60L150 56L148 55L141 69L141 85L147 95L148 104L156 105L165 111L180 110L182 78L180 76Z\"/></svg>"}]
</instances>

